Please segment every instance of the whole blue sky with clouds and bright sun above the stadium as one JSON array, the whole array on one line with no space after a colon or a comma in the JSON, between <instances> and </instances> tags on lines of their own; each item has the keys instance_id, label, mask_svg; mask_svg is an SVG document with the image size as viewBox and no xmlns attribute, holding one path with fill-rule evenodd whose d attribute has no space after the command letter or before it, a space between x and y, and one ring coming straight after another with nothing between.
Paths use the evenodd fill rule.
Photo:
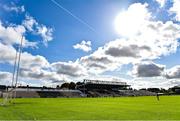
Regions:
<instances>
[{"instance_id":1,"label":"whole blue sky with clouds and bright sun above the stadium","mask_svg":"<svg viewBox=\"0 0 180 121\"><path fill-rule=\"evenodd\" d=\"M180 85L180 0L0 0L0 85Z\"/></svg>"}]
</instances>

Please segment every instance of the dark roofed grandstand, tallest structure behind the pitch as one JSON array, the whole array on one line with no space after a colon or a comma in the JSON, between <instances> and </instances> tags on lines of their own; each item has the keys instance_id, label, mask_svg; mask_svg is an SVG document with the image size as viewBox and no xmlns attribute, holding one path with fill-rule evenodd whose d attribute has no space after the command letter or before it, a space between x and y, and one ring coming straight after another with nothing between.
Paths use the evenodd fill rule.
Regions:
<instances>
[{"instance_id":1,"label":"dark roofed grandstand, tallest structure behind the pitch","mask_svg":"<svg viewBox=\"0 0 180 121\"><path fill-rule=\"evenodd\" d=\"M84 79L76 88L88 97L114 97L122 96L120 90L129 90L130 85L120 81L104 81Z\"/></svg>"}]
</instances>

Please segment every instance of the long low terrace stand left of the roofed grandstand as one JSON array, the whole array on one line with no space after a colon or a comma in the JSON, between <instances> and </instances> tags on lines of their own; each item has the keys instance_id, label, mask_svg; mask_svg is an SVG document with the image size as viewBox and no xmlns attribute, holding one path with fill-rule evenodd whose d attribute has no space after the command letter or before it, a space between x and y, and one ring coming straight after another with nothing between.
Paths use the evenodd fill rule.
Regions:
<instances>
[{"instance_id":1,"label":"long low terrace stand left of the roofed grandstand","mask_svg":"<svg viewBox=\"0 0 180 121\"><path fill-rule=\"evenodd\" d=\"M6 87L0 91L0 97L11 95L16 98L57 98L57 97L84 97L80 90L62 90L48 87L19 86L17 88Z\"/></svg>"}]
</instances>

